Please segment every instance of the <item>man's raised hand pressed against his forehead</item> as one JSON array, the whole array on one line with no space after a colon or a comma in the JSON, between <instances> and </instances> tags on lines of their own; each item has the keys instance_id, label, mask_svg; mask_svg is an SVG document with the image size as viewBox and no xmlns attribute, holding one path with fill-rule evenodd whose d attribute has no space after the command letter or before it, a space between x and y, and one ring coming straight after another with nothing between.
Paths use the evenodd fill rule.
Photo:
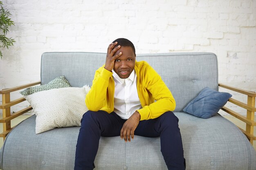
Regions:
<instances>
[{"instance_id":1,"label":"man's raised hand pressed against his forehead","mask_svg":"<svg viewBox=\"0 0 256 170\"><path fill-rule=\"evenodd\" d=\"M117 46L117 42L111 43L108 46L108 52L107 52L107 57L106 57L106 63L105 63L105 69L108 71L112 71L114 68L115 60L122 55L122 52L118 53L115 55L118 49L120 49L121 46ZM115 48L114 48L115 47Z\"/></svg>"}]
</instances>

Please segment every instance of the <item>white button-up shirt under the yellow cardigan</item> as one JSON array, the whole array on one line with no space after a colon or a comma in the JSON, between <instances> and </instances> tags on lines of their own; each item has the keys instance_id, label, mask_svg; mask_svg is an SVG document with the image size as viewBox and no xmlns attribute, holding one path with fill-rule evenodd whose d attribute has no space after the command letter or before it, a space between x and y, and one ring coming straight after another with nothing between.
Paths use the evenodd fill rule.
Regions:
<instances>
[{"instance_id":1,"label":"white button-up shirt under the yellow cardigan","mask_svg":"<svg viewBox=\"0 0 256 170\"><path fill-rule=\"evenodd\" d=\"M113 77L115 81L114 112L122 119L128 119L136 110L142 108L139 101L135 70L126 79L121 79L115 71Z\"/></svg>"}]
</instances>

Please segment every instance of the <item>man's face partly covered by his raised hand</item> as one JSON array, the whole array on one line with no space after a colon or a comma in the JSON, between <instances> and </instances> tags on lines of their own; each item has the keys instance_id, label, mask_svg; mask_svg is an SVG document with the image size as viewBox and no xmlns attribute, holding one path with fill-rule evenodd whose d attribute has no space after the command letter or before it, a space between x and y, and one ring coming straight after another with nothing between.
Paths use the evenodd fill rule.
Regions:
<instances>
[{"instance_id":1,"label":"man's face partly covered by his raised hand","mask_svg":"<svg viewBox=\"0 0 256 170\"><path fill-rule=\"evenodd\" d=\"M114 71L121 79L126 79L134 70L136 56L130 46L121 46L115 52L115 55L120 52L122 52L122 55L115 60Z\"/></svg>"}]
</instances>

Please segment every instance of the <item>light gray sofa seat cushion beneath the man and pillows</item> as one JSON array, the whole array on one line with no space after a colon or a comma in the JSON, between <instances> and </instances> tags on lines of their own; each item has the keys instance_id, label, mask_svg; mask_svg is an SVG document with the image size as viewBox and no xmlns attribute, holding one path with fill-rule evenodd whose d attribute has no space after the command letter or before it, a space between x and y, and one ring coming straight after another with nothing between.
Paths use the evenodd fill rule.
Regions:
<instances>
[{"instance_id":1,"label":"light gray sofa seat cushion beneath the man and pillows","mask_svg":"<svg viewBox=\"0 0 256 170\"><path fill-rule=\"evenodd\" d=\"M256 169L254 148L230 121L220 115L211 119L184 112L175 115L179 118L187 169ZM36 135L35 120L34 115L9 133L0 153L0 168L73 170L79 127L55 128ZM101 137L94 163L94 170L120 170L124 166L132 170L167 170L160 151L160 137L135 136L127 143L120 137Z\"/></svg>"}]
</instances>

